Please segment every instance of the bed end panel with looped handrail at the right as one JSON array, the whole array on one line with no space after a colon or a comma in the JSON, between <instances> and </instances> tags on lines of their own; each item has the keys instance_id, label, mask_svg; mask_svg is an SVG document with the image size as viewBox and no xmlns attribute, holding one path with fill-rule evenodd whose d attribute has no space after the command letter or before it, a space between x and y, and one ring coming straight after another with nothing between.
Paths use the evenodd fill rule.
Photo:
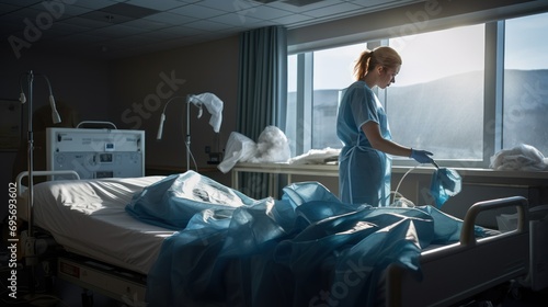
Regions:
<instances>
[{"instance_id":1,"label":"bed end panel with looped handrail at the right","mask_svg":"<svg viewBox=\"0 0 548 307\"><path fill-rule=\"evenodd\" d=\"M515 207L516 229L476 239L476 218L481 212ZM457 243L421 254L422 280L400 265L386 272L386 305L450 306L489 288L527 275L529 268L528 202L521 196L473 204L467 212Z\"/></svg>"}]
</instances>

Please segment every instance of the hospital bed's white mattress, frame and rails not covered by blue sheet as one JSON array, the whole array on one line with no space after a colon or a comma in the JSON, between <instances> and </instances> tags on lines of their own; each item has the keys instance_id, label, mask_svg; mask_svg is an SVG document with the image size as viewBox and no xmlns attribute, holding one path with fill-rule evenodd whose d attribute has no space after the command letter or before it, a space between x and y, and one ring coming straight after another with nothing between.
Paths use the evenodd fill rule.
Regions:
<instances>
[{"instance_id":1,"label":"hospital bed's white mattress, frame and rails not covered by blue sheet","mask_svg":"<svg viewBox=\"0 0 548 307\"><path fill-rule=\"evenodd\" d=\"M62 247L57 257L57 276L127 305L145 306L147 275L165 238L176 231L140 221L125 206L135 193L163 179L110 178L36 184L34 224ZM24 192L20 196L24 197ZM517 209L517 229L477 239L473 229L478 214L501 207ZM421 252L422 280L401 265L388 266L378 282L378 304L449 306L509 281L525 278L530 248L527 212L523 197L472 205L459 242ZM27 213L19 214L24 218Z\"/></svg>"}]
</instances>

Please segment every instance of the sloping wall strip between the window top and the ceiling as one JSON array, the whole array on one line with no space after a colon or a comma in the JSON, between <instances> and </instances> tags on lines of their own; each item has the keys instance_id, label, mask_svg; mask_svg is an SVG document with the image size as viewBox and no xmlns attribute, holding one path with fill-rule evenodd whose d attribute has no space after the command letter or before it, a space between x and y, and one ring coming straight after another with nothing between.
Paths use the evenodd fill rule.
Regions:
<instances>
[{"instance_id":1,"label":"sloping wall strip between the window top and the ceiling","mask_svg":"<svg viewBox=\"0 0 548 307\"><path fill-rule=\"evenodd\" d=\"M288 31L289 53L546 12L543 0L427 0Z\"/></svg>"}]
</instances>

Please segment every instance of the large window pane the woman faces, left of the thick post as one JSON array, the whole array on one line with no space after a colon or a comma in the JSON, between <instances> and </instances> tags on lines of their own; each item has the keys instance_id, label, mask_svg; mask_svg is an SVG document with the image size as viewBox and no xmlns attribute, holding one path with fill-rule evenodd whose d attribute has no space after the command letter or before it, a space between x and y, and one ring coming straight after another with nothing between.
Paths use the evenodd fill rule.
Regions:
<instances>
[{"instance_id":1,"label":"large window pane the woman faces, left of the thick post","mask_svg":"<svg viewBox=\"0 0 548 307\"><path fill-rule=\"evenodd\" d=\"M402 66L379 96L395 141L438 160L483 159L484 25L389 39Z\"/></svg>"}]
</instances>

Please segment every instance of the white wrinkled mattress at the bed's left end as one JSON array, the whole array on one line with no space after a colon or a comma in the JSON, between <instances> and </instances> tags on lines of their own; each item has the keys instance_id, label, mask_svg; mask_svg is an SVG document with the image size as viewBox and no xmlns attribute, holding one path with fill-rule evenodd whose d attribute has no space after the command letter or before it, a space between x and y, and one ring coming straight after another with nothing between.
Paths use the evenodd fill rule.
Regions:
<instances>
[{"instance_id":1,"label":"white wrinkled mattress at the bed's left end","mask_svg":"<svg viewBox=\"0 0 548 307\"><path fill-rule=\"evenodd\" d=\"M125 211L135 192L163 177L49 181L34 187L34 225L70 252L147 274L174 231Z\"/></svg>"}]
</instances>

